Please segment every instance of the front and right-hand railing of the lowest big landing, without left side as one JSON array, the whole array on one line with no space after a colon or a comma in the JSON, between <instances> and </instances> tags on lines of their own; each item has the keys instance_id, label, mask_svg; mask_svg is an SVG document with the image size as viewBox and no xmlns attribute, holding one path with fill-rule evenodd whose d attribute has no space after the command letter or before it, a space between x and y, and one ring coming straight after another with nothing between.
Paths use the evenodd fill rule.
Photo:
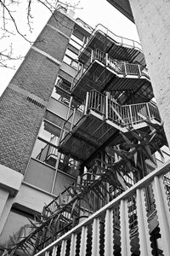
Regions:
<instances>
[{"instance_id":1,"label":"front and right-hand railing of the lowest big landing, without left side","mask_svg":"<svg viewBox=\"0 0 170 256\"><path fill-rule=\"evenodd\" d=\"M108 101L108 102L106 102ZM156 119L161 121L161 117L156 105L150 102L119 105L113 99L99 93L97 90L91 90L88 96L88 111L92 109L108 119L111 119L116 125L126 127L127 125L137 125L144 119Z\"/></svg>"}]
</instances>

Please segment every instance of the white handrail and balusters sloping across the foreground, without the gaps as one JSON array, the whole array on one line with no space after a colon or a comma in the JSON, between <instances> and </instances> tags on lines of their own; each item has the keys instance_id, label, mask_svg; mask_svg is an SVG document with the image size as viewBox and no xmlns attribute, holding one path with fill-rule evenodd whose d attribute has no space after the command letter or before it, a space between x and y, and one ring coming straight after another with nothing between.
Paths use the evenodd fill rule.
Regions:
<instances>
[{"instance_id":1,"label":"white handrail and balusters sloping across the foreground, without the gaps","mask_svg":"<svg viewBox=\"0 0 170 256\"><path fill-rule=\"evenodd\" d=\"M119 224L120 233L116 236L120 238L121 247L123 255L130 255L131 252L131 236L134 233L135 228L138 229L137 233L134 233L133 236L139 238L139 253L141 255L151 255L152 245L150 244L150 227L149 227L149 218L148 218L148 209L145 206L146 194L145 189L150 185L153 189L153 200L155 202L156 211L154 214L156 215L156 219L160 227L161 239L164 243L162 247L163 254L169 255L170 247L169 247L169 236L170 236L170 221L169 221L169 200L167 198L168 189L164 185L163 175L169 172L170 169L170 161L168 161L164 166L157 168L156 171L150 172L150 174L143 179L141 179L138 183L134 184L130 189L127 189L121 195L117 196L116 199L109 202L105 207L99 209L99 211L94 212L87 219L82 221L82 223L77 224L73 229L65 233L65 235L59 237L56 241L52 242L48 247L45 247L39 253L35 254L35 256L39 255L50 255L50 253L55 253L57 251L58 246L61 246L61 252L65 252L66 250L66 241L71 240L71 255L74 255L73 252L76 251L76 242L77 236L76 234L81 233L81 241L80 241L80 250L87 247L88 245L88 227L93 227L91 230L92 234L92 249L95 248L95 252L99 252L99 246L102 245L105 247L105 253L109 255L114 254L113 240L114 240L114 230L116 229L116 222ZM129 204L129 200L133 197L133 210L135 212L136 223L131 227L129 225L129 219L131 215L129 213L130 208L132 208L132 203ZM104 236L105 240L100 241L99 230L100 220L105 222ZM151 222L151 220L150 220ZM154 224L154 222L153 222ZM74 248L75 247L75 248ZM94 249L93 249L94 251ZM63 255L62 253L59 255Z\"/></svg>"}]
</instances>

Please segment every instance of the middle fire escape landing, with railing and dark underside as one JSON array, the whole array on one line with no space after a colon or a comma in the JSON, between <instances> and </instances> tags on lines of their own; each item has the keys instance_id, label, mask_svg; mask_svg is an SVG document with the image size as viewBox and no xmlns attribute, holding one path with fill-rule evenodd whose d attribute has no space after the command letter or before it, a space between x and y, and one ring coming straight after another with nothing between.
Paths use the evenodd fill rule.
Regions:
<instances>
[{"instance_id":1,"label":"middle fire escape landing, with railing and dark underside","mask_svg":"<svg viewBox=\"0 0 170 256\"><path fill-rule=\"evenodd\" d=\"M93 89L113 91L122 104L128 101L128 91L133 92L135 102L149 102L154 96L143 66L117 61L99 49L92 51L86 68L77 73L71 93L81 102L86 92Z\"/></svg>"}]
</instances>

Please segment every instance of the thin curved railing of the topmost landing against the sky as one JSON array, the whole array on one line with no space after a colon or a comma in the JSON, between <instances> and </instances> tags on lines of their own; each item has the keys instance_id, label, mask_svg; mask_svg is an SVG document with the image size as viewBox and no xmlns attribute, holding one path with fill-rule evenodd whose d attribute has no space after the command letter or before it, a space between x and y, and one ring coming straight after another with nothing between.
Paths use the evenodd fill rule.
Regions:
<instances>
[{"instance_id":1,"label":"thin curved railing of the topmost landing against the sky","mask_svg":"<svg viewBox=\"0 0 170 256\"><path fill-rule=\"evenodd\" d=\"M112 40L114 40L117 44L121 44L123 46L129 47L129 48L136 48L139 49L140 51L142 51L142 46L141 44L139 44L139 42L133 40L133 39L128 39L128 38L123 38L120 36L117 36L116 34L114 34L113 32L111 32L111 30L109 30L108 28L106 28L105 26L98 24L95 29L94 32L91 33L88 42L91 41L91 39L94 37L94 34L96 32L102 32L105 35L107 35L109 38L111 38ZM84 44L82 46L82 49L80 49L80 53L87 47L87 44Z\"/></svg>"}]
</instances>

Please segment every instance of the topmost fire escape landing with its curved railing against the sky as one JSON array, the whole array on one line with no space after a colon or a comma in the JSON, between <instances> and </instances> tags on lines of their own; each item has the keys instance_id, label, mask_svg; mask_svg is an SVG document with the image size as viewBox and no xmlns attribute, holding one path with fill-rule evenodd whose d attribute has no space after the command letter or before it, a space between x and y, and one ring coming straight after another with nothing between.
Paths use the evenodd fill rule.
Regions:
<instances>
[{"instance_id":1,"label":"topmost fire escape landing with its curved railing against the sky","mask_svg":"<svg viewBox=\"0 0 170 256\"><path fill-rule=\"evenodd\" d=\"M94 49L107 52L112 58L117 60L137 62L143 66L145 65L141 44L132 39L117 36L101 24L95 27L88 40L88 44L82 46L79 61L85 64L88 61L91 50Z\"/></svg>"}]
</instances>

